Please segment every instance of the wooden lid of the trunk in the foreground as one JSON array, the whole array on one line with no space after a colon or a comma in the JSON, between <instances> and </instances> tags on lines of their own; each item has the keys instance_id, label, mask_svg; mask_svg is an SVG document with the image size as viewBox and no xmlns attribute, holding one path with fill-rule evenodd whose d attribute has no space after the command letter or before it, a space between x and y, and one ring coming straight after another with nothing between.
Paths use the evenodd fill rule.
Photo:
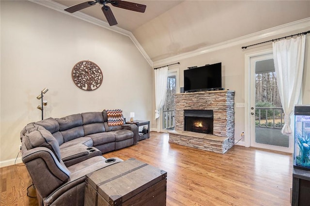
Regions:
<instances>
[{"instance_id":1,"label":"wooden lid of the trunk in the foreground","mask_svg":"<svg viewBox=\"0 0 310 206\"><path fill-rule=\"evenodd\" d=\"M166 178L166 171L133 158L86 175L87 183L111 206L121 205Z\"/></svg>"}]
</instances>

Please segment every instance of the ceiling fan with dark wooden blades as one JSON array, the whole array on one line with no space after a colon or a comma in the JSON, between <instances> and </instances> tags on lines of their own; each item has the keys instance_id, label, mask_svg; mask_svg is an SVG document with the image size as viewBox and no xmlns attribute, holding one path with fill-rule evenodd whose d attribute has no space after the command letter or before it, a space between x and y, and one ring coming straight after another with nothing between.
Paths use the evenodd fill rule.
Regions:
<instances>
[{"instance_id":1,"label":"ceiling fan with dark wooden blades","mask_svg":"<svg viewBox=\"0 0 310 206\"><path fill-rule=\"evenodd\" d=\"M93 6L96 3L103 5L101 10L102 10L103 14L106 16L110 26L116 25L117 21L116 21L113 13L111 11L111 8L106 5L107 3L110 3L110 4L112 4L112 6L115 6L115 7L131 10L131 11L135 11L135 12L141 12L141 13L144 13L145 9L146 9L146 5L139 4L139 3L133 3L133 2L129 2L129 1L124 1L124 0L94 0L94 1L86 1L83 3L79 3L77 5L68 7L64 11L67 11L69 13L74 13L74 12L77 12L81 9L85 9L87 7Z\"/></svg>"}]
</instances>

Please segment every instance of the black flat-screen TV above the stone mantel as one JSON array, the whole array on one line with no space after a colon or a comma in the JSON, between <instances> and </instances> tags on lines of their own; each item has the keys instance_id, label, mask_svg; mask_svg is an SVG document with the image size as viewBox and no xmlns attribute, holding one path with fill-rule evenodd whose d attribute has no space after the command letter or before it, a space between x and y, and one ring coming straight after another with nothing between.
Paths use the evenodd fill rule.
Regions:
<instances>
[{"instance_id":1,"label":"black flat-screen TV above the stone mantel","mask_svg":"<svg viewBox=\"0 0 310 206\"><path fill-rule=\"evenodd\" d=\"M222 63L184 70L184 91L217 90L222 88Z\"/></svg>"}]
</instances>

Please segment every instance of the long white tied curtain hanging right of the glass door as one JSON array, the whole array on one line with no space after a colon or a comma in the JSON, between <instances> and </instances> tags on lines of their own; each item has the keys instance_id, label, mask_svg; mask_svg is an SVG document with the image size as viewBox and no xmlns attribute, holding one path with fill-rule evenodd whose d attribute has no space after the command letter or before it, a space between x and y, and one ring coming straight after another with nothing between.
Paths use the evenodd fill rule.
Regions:
<instances>
[{"instance_id":1,"label":"long white tied curtain hanging right of the glass door","mask_svg":"<svg viewBox=\"0 0 310 206\"><path fill-rule=\"evenodd\" d=\"M277 85L284 112L282 134L292 133L291 116L301 93L306 36L273 42Z\"/></svg>"}]
</instances>

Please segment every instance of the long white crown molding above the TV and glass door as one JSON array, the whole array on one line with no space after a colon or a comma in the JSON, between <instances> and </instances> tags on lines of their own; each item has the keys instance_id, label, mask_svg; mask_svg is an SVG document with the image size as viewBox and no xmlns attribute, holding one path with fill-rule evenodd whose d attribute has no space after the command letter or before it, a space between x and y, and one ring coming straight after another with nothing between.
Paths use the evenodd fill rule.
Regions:
<instances>
[{"instance_id":1,"label":"long white crown molding above the TV and glass door","mask_svg":"<svg viewBox=\"0 0 310 206\"><path fill-rule=\"evenodd\" d=\"M266 38L266 37L271 37L277 34L281 34L281 33L285 33L285 32L290 32L290 31L294 31L297 29L305 29L305 30L309 30L310 29L310 17L309 18L305 18L305 19L301 19L298 21L294 21L291 23L287 23L287 24L283 24L277 27L273 27L270 29L265 29L262 31L258 31L252 34L248 34L246 36L242 36L242 37L238 37L232 40L228 40L225 42L221 42L218 44L213 44L210 46L206 46L200 49L196 49L190 52L186 52L183 54L179 54L170 58L166 58L166 59L161 59L158 61L154 61L153 62L153 66L154 67L158 67L161 65L165 65L165 64L169 64L171 62L175 62L175 61L180 61L182 59L186 59L186 58L190 58L190 57L195 57L201 54L205 54L205 53L209 53L209 52L213 52L216 50L220 50L220 49L224 49L224 48L228 48L228 47L232 47L232 46L236 46L236 45L240 45L240 44L248 44L248 42L251 41L258 41L260 39ZM308 29L307 29L308 28ZM241 49L241 47L240 47Z\"/></svg>"}]
</instances>

